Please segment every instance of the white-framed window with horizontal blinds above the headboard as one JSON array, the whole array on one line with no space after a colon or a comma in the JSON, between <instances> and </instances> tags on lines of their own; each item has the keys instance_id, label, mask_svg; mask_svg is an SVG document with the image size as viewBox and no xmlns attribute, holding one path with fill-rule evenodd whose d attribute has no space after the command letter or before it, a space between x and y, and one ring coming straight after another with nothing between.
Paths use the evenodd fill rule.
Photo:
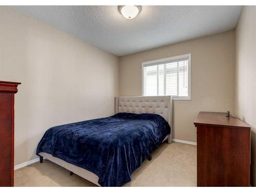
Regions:
<instances>
[{"instance_id":1,"label":"white-framed window with horizontal blinds above the headboard","mask_svg":"<svg viewBox=\"0 0 256 192\"><path fill-rule=\"evenodd\" d=\"M171 95L190 100L190 54L142 62L144 96Z\"/></svg>"}]
</instances>

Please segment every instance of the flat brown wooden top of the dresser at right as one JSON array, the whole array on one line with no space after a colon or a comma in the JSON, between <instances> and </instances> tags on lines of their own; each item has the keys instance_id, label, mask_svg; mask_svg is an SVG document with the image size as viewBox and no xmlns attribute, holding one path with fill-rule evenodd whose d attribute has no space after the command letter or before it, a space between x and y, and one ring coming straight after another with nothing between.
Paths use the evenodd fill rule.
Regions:
<instances>
[{"instance_id":1,"label":"flat brown wooden top of the dresser at right","mask_svg":"<svg viewBox=\"0 0 256 192\"><path fill-rule=\"evenodd\" d=\"M236 129L250 130L250 126L235 117L226 117L226 113L221 112L199 112L194 121L197 125L224 126Z\"/></svg>"}]
</instances>

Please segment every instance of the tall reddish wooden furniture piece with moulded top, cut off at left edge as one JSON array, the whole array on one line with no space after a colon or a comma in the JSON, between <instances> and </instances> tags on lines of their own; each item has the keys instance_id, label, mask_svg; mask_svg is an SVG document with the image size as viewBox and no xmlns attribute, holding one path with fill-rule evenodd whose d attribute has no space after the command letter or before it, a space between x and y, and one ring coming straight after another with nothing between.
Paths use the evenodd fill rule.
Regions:
<instances>
[{"instance_id":1,"label":"tall reddish wooden furniture piece with moulded top, cut off at left edge","mask_svg":"<svg viewBox=\"0 0 256 192\"><path fill-rule=\"evenodd\" d=\"M0 187L13 186L14 94L18 84L0 81Z\"/></svg>"}]
</instances>

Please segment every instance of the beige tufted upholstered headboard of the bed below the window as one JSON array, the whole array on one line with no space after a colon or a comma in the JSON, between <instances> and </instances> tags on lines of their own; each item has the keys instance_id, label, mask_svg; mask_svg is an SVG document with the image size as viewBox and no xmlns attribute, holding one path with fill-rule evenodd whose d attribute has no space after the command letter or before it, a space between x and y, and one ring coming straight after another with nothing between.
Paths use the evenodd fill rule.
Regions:
<instances>
[{"instance_id":1,"label":"beige tufted upholstered headboard of the bed below the window","mask_svg":"<svg viewBox=\"0 0 256 192\"><path fill-rule=\"evenodd\" d=\"M171 96L121 96L115 97L115 113L155 113L170 125L169 141L172 142L173 99Z\"/></svg>"}]
</instances>

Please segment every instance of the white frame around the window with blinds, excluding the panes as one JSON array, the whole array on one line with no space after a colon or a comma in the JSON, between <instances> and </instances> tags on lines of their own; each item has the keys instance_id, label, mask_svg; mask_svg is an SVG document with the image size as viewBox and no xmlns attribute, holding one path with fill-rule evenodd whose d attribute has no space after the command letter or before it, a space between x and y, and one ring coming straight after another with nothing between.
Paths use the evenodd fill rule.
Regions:
<instances>
[{"instance_id":1,"label":"white frame around the window with blinds, excluding the panes","mask_svg":"<svg viewBox=\"0 0 256 192\"><path fill-rule=\"evenodd\" d=\"M191 100L191 53L142 62L141 63L142 95L144 96L144 66L155 66L155 65L160 65L162 62L174 62L174 61L182 60L185 58L188 58L188 77L187 77L187 79L188 79L188 95L187 95L187 97L181 97L181 96L172 96L172 97L173 97L173 100Z\"/></svg>"}]
</instances>

